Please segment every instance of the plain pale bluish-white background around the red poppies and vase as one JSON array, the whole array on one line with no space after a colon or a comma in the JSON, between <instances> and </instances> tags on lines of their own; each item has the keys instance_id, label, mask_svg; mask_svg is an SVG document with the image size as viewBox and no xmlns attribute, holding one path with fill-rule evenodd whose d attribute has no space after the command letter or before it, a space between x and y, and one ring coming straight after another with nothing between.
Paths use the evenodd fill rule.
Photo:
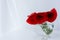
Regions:
<instances>
[{"instance_id":1,"label":"plain pale bluish-white background around the red poppies and vase","mask_svg":"<svg viewBox=\"0 0 60 40\"><path fill-rule=\"evenodd\" d=\"M49 40L60 40L59 4L59 0L0 0L0 40L40 40L43 31L38 25L27 24L27 15L52 8L58 16Z\"/></svg>"}]
</instances>

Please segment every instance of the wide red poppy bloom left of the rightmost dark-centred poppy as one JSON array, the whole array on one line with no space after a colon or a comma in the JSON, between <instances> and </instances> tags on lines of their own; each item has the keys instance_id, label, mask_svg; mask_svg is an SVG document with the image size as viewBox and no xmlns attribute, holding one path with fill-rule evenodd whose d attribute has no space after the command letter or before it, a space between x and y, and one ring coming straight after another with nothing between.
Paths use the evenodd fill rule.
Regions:
<instances>
[{"instance_id":1,"label":"wide red poppy bloom left of the rightmost dark-centred poppy","mask_svg":"<svg viewBox=\"0 0 60 40\"><path fill-rule=\"evenodd\" d=\"M29 24L42 24L46 21L46 13L32 13L28 16L27 23Z\"/></svg>"}]
</instances>

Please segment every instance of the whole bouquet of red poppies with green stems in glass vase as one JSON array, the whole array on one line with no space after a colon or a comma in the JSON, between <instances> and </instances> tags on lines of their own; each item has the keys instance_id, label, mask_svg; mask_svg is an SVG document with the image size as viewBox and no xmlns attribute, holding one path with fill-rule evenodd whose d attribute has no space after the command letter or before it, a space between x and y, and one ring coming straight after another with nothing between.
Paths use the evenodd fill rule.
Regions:
<instances>
[{"instance_id":1,"label":"whole bouquet of red poppies with green stems in glass vase","mask_svg":"<svg viewBox=\"0 0 60 40\"><path fill-rule=\"evenodd\" d=\"M43 37L41 40L47 40L47 36L49 36L53 32L54 25L48 24L52 23L57 18L57 11L55 8L53 8L50 11L47 12L34 12L31 15L28 15L28 18L26 20L27 23L31 25L39 25L43 32L46 34L45 37ZM49 27L51 25L51 27Z\"/></svg>"}]
</instances>

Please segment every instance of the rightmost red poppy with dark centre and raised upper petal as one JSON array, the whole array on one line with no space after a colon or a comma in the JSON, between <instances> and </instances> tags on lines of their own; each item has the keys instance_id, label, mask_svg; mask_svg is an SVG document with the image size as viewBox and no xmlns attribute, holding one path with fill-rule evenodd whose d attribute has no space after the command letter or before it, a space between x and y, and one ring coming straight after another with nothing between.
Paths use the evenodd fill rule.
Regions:
<instances>
[{"instance_id":1,"label":"rightmost red poppy with dark centre and raised upper petal","mask_svg":"<svg viewBox=\"0 0 60 40\"><path fill-rule=\"evenodd\" d=\"M51 11L47 12L47 20L49 22L55 21L56 18L57 18L57 11L55 10L55 8L53 8Z\"/></svg>"}]
</instances>

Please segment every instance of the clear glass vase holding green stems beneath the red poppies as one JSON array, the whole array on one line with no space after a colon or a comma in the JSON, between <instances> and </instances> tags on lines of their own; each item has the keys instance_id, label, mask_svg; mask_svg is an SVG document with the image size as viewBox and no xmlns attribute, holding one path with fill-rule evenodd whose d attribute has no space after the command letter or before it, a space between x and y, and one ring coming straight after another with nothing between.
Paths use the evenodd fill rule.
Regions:
<instances>
[{"instance_id":1,"label":"clear glass vase holding green stems beneath the red poppies","mask_svg":"<svg viewBox=\"0 0 60 40\"><path fill-rule=\"evenodd\" d=\"M50 34L53 32L54 25L50 23L43 23L40 25L43 32L45 33L44 36L41 38L41 40L49 40Z\"/></svg>"}]
</instances>

